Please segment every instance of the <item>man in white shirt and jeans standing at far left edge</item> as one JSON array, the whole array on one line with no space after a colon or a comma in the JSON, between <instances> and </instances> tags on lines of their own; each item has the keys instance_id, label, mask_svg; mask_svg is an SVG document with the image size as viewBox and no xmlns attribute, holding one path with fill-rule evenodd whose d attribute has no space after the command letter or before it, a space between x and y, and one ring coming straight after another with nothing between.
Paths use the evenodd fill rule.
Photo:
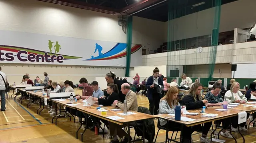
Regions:
<instances>
[{"instance_id":1,"label":"man in white shirt and jeans standing at far left edge","mask_svg":"<svg viewBox=\"0 0 256 143\"><path fill-rule=\"evenodd\" d=\"M1 96L1 111L5 111L5 92L6 92L6 84L7 77L4 72L2 72L2 67L0 67L0 96Z\"/></svg>"}]
</instances>

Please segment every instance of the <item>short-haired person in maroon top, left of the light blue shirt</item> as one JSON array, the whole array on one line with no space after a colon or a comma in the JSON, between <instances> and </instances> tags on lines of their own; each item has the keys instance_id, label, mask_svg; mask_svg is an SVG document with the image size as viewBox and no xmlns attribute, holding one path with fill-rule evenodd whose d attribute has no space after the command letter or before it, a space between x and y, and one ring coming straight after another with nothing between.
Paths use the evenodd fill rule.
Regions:
<instances>
[{"instance_id":1,"label":"short-haired person in maroon top, left of the light blue shirt","mask_svg":"<svg viewBox=\"0 0 256 143\"><path fill-rule=\"evenodd\" d=\"M88 85L87 79L83 77L79 80L79 83L84 87L84 92L82 96L76 94L76 99L85 99L86 96L92 96L93 88L92 86Z\"/></svg>"}]
</instances>

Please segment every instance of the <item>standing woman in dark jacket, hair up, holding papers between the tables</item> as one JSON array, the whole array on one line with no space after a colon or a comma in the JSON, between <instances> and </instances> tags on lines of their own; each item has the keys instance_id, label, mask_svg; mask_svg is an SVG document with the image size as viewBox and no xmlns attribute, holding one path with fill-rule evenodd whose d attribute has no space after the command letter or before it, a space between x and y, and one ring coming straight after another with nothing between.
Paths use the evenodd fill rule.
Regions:
<instances>
[{"instance_id":1,"label":"standing woman in dark jacket, hair up, holding papers between the tables","mask_svg":"<svg viewBox=\"0 0 256 143\"><path fill-rule=\"evenodd\" d=\"M159 69L156 67L153 71L153 75L149 76L146 82L146 88L148 89L146 96L148 97L149 100L149 111L152 115L158 114L157 111L159 109L160 96L162 95L159 92L157 92L157 88L159 86L155 85L164 85L162 78L159 78L158 74Z\"/></svg>"}]
</instances>

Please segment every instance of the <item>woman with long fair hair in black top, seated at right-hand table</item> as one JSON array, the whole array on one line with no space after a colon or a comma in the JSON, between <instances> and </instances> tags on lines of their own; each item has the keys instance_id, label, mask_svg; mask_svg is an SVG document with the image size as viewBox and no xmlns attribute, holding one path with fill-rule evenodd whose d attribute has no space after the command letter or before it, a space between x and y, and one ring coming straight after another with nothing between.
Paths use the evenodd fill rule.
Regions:
<instances>
[{"instance_id":1,"label":"woman with long fair hair in black top, seated at right-hand table","mask_svg":"<svg viewBox=\"0 0 256 143\"><path fill-rule=\"evenodd\" d=\"M182 105L186 106L187 110L194 110L194 109L201 109L203 106L207 107L208 100L202 100L202 96L200 95L201 90L203 89L202 84L199 82L195 82L190 90L186 91L185 94L182 96ZM202 129L202 137L200 138L201 142L210 143L210 140L207 138L208 131L212 126L212 122L204 123ZM197 131L201 128L201 125L192 126L191 134L194 131Z\"/></svg>"}]
</instances>

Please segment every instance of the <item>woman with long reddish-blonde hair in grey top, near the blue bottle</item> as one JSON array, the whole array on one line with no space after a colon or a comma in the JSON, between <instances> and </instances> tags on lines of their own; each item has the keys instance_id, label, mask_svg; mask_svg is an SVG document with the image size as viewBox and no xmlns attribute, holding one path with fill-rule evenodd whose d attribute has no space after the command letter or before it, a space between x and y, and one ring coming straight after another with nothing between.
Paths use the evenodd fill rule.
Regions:
<instances>
[{"instance_id":1,"label":"woman with long reddish-blonde hair in grey top, near the blue bottle","mask_svg":"<svg viewBox=\"0 0 256 143\"><path fill-rule=\"evenodd\" d=\"M175 106L180 106L178 102L179 90L175 86L171 86L166 95L160 100L158 114L175 114ZM184 107L184 106L183 106ZM182 113L182 112L181 112ZM159 119L160 125L167 128L167 121L165 119ZM169 125L169 129L180 129L179 123L172 122ZM190 143L192 135L191 127L183 127L182 132L182 143Z\"/></svg>"}]
</instances>

